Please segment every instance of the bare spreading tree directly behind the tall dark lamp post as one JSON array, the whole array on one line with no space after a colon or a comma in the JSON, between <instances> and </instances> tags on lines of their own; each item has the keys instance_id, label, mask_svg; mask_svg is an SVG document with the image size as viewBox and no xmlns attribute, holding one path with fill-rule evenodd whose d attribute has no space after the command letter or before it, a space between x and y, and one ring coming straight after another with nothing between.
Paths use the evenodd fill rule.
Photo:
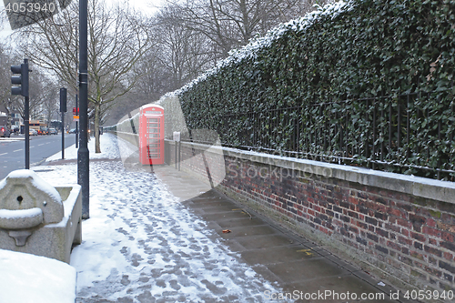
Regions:
<instances>
[{"instance_id":1,"label":"bare spreading tree directly behind the tall dark lamp post","mask_svg":"<svg viewBox=\"0 0 455 303\"><path fill-rule=\"evenodd\" d=\"M77 3L59 15L21 29L19 45L36 65L51 71L73 91L77 89ZM96 153L101 152L100 118L119 96L131 90L144 71L137 60L151 47L149 31L140 13L127 5L107 5L90 0L88 5L88 98L93 106Z\"/></svg>"}]
</instances>

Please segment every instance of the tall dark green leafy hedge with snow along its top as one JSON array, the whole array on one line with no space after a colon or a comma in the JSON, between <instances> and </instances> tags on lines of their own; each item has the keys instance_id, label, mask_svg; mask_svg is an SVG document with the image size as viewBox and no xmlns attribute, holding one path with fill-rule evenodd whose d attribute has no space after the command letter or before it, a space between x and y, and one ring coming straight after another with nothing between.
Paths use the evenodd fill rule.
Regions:
<instances>
[{"instance_id":1,"label":"tall dark green leafy hedge with snow along its top","mask_svg":"<svg viewBox=\"0 0 455 303\"><path fill-rule=\"evenodd\" d=\"M258 41L263 42L260 38ZM453 137L455 120L455 0L352 0L325 6L317 13L282 25L269 35L267 43L255 45L258 42L253 41L246 46L248 52L234 52L235 59L225 61L215 71L176 92L188 128L217 130L226 123L229 114L259 113L276 108L286 109L283 116L294 115L294 126L305 127L308 126L308 116L296 116L292 109L287 108L342 100L359 100L350 101L350 104L356 108L357 102L361 104L357 107L364 107L361 100L369 97L375 98L369 106L376 104L386 108L387 105L379 104L380 96L394 100L402 94L436 92L436 95L431 95L434 97L419 99L419 110L411 116L413 125L408 128L413 128L415 134L420 128L424 131L431 126L428 136L424 136L428 140L429 136L436 136L432 132L439 126L442 127L439 134L442 132L443 136L432 137L434 142L420 142L420 145L436 145L431 153L427 151L423 155L427 157L424 160L419 155L420 148L410 142L403 148L408 154L411 152L413 158L420 158L420 162L414 163L416 166L432 163L431 166L435 167L440 165L440 161L434 161L437 157L446 161L455 158L455 146L448 142ZM394 104L398 101L390 106ZM337 108L334 106L331 112L336 112ZM359 136L372 134L369 112L372 113L365 109L366 115L360 117L364 119L366 133ZM329 121L331 126L337 125L337 121L333 121L336 116ZM223 131L232 129L232 133L220 134L228 138L222 139L222 143L240 146L241 142L235 142L235 138L239 129L248 125L248 118L231 117L228 121L230 128L225 127ZM322 110L314 112L311 117L327 120ZM384 124L386 120L378 121L375 126L379 123ZM390 117L389 123L396 126L397 117ZM284 131L284 128L274 127L275 132ZM403 134L410 132L408 128L404 126ZM307 130L301 128L298 131L305 133ZM333 130L330 134L336 136L336 133ZM282 136L278 137L283 140ZM294 136L287 140L295 139ZM380 134L377 138L379 141L386 139ZM440 144L437 140L445 141ZM379 144L379 141L364 144L361 148L371 149L372 144ZM298 141L298 150L304 150L305 144L303 139ZM275 142L271 146L283 145ZM319 146L315 148L320 149ZM337 148L341 147L329 145L332 154L337 152ZM374 151L360 151L359 154L369 157ZM433 157L433 160L428 157ZM401 163L407 161L407 157L399 159ZM406 173L414 171L407 170Z\"/></svg>"}]
</instances>

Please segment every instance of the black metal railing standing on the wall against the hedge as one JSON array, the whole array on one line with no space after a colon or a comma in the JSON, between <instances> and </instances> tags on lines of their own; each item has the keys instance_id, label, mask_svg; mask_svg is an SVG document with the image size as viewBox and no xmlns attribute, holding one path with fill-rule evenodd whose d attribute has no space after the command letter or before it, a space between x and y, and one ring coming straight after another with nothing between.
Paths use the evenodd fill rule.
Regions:
<instances>
[{"instance_id":1,"label":"black metal railing standing on the wall against the hedge","mask_svg":"<svg viewBox=\"0 0 455 303\"><path fill-rule=\"evenodd\" d=\"M455 180L452 91L214 116L223 146Z\"/></svg>"}]
</instances>

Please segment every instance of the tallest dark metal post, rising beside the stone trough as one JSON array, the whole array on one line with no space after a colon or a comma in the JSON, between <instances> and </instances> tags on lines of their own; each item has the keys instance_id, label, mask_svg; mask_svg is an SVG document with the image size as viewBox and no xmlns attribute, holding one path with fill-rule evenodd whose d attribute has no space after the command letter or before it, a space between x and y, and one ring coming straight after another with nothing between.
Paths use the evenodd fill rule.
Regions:
<instances>
[{"instance_id":1,"label":"tallest dark metal post, rising beside the stone trough","mask_svg":"<svg viewBox=\"0 0 455 303\"><path fill-rule=\"evenodd\" d=\"M77 183L82 189L82 218L89 216L89 158L87 147L87 0L79 1L79 96L80 142L77 150Z\"/></svg>"}]
</instances>

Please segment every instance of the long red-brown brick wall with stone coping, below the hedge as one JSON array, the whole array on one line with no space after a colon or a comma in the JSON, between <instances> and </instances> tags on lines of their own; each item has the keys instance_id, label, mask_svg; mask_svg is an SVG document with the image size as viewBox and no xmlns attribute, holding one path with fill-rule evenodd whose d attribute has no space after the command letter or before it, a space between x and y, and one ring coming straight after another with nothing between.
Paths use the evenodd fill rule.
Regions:
<instances>
[{"instance_id":1,"label":"long red-brown brick wall with stone coping, below the hedge","mask_svg":"<svg viewBox=\"0 0 455 303\"><path fill-rule=\"evenodd\" d=\"M396 287L455 290L451 182L188 143L181 155L182 170L225 174L217 190Z\"/></svg>"}]
</instances>

